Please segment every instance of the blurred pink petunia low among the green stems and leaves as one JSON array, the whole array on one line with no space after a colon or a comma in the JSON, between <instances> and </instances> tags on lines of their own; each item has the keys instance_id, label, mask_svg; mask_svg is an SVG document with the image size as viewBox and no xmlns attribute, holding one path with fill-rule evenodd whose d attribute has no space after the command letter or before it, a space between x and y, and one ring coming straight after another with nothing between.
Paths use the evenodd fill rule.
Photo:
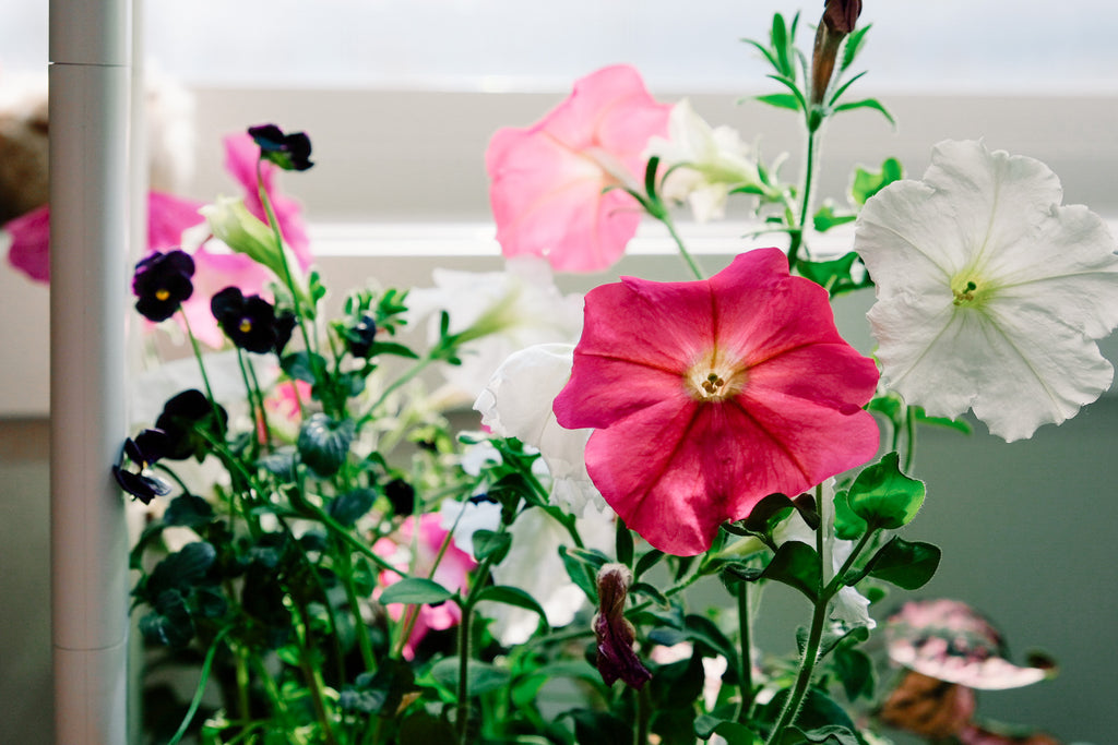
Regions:
<instances>
[{"instance_id":1,"label":"blurred pink petunia low among the green stems and leaves","mask_svg":"<svg viewBox=\"0 0 1118 745\"><path fill-rule=\"evenodd\" d=\"M438 551L447 537L447 529L439 524L439 520L438 513L423 515L419 517L419 534L416 536L416 520L408 518L391 537L375 543L372 550L398 566L401 572L409 572L411 576L428 576ZM458 548L452 538L430 579L452 592L464 590L467 575L476 565L477 562L473 556ZM391 572L380 573L381 586L387 588L399 580L400 576ZM388 612L394 619L399 620L404 615L405 605L389 605ZM418 610L410 612L417 612L418 617L404 647L404 656L408 659L415 655L416 646L428 631L443 631L457 625L462 620L462 609L456 603L420 605Z\"/></svg>"}]
</instances>

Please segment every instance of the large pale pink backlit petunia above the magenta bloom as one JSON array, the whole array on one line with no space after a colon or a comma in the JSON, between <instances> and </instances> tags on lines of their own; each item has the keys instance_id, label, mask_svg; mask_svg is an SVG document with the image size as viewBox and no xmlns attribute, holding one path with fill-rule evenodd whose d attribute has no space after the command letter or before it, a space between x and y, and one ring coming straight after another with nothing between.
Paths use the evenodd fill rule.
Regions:
<instances>
[{"instance_id":1,"label":"large pale pink backlit petunia above the magenta bloom","mask_svg":"<svg viewBox=\"0 0 1118 745\"><path fill-rule=\"evenodd\" d=\"M618 65L579 79L563 103L528 128L490 141L485 165L496 238L505 256L543 256L560 271L599 271L625 250L641 208L622 189L644 176L648 140L666 136L636 69Z\"/></svg>"}]
</instances>

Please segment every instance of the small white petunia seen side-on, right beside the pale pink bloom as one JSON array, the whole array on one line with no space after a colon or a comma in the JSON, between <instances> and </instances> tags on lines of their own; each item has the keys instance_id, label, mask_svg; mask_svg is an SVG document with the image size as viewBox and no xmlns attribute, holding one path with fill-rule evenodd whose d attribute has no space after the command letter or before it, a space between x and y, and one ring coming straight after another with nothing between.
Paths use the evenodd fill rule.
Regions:
<instances>
[{"instance_id":1,"label":"small white petunia seen side-on, right beside the pale pink bloom","mask_svg":"<svg viewBox=\"0 0 1118 745\"><path fill-rule=\"evenodd\" d=\"M664 179L662 195L689 203L697 221L721 218L731 189L761 187L749 145L731 127L712 128L686 98L672 108L667 134L648 142L647 155L660 156L664 168L679 166Z\"/></svg>"}]
</instances>

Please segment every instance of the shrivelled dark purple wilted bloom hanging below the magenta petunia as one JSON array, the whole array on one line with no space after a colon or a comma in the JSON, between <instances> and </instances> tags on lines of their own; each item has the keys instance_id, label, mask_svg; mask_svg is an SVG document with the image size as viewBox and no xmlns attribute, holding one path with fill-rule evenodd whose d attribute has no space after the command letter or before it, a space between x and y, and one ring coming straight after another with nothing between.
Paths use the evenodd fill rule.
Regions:
<instances>
[{"instance_id":1,"label":"shrivelled dark purple wilted bloom hanging below the magenta petunia","mask_svg":"<svg viewBox=\"0 0 1118 745\"><path fill-rule=\"evenodd\" d=\"M598 614L594 617L594 634L598 640L598 672L607 685L617 679L641 689L652 679L652 672L633 650L636 632L625 618L625 600L633 583L633 573L624 564L606 564L598 571Z\"/></svg>"}]
</instances>

